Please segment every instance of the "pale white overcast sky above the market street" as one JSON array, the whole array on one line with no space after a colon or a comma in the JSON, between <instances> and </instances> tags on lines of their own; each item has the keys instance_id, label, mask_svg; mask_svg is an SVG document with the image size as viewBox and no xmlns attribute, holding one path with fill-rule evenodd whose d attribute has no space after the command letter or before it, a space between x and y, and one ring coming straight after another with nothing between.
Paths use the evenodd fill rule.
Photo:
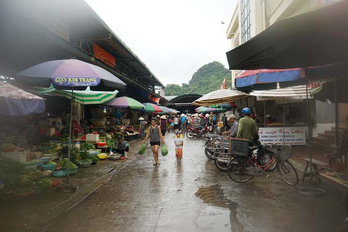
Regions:
<instances>
[{"instance_id":1,"label":"pale white overcast sky above the market street","mask_svg":"<svg viewBox=\"0 0 348 232\"><path fill-rule=\"evenodd\" d=\"M236 0L85 0L163 83L186 83L202 65L228 67Z\"/></svg>"}]
</instances>

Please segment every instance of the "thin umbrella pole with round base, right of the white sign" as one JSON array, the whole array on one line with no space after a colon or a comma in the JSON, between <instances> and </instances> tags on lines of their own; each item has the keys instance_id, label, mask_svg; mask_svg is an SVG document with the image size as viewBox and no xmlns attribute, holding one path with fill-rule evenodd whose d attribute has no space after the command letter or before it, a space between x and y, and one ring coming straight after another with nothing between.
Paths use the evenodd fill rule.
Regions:
<instances>
[{"instance_id":1,"label":"thin umbrella pole with round base, right of the white sign","mask_svg":"<svg viewBox=\"0 0 348 232\"><path fill-rule=\"evenodd\" d=\"M308 100L308 77L306 76L306 105L307 105L307 126L308 126L308 145L309 145L309 153L310 153L310 176L311 182L310 187L301 188L299 193L302 195L316 197L316 196L324 196L325 191L322 189L318 189L314 186L313 182L313 173L312 173L312 143L311 143L311 122L310 122L310 108L309 108L309 100Z\"/></svg>"}]
</instances>

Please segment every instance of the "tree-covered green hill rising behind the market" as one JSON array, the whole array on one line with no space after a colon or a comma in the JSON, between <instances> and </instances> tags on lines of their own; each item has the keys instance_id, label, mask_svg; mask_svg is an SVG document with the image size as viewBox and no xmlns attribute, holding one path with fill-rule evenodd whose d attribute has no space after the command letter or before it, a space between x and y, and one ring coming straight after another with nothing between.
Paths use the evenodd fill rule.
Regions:
<instances>
[{"instance_id":1,"label":"tree-covered green hill rising behind the market","mask_svg":"<svg viewBox=\"0 0 348 232\"><path fill-rule=\"evenodd\" d=\"M165 86L165 96L180 96L184 94L204 95L219 89L225 78L227 80L227 87L231 87L231 72L220 62L214 61L200 67L193 74L188 84L167 84Z\"/></svg>"}]
</instances>

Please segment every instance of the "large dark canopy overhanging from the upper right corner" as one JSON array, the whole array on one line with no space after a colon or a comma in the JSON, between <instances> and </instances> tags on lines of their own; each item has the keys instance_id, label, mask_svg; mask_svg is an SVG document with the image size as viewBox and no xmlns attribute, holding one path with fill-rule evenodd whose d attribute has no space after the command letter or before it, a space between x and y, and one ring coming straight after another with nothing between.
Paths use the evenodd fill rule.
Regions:
<instances>
[{"instance_id":1,"label":"large dark canopy overhanging from the upper right corner","mask_svg":"<svg viewBox=\"0 0 348 232\"><path fill-rule=\"evenodd\" d=\"M230 70L304 68L346 62L348 1L274 23L227 52Z\"/></svg>"}]
</instances>

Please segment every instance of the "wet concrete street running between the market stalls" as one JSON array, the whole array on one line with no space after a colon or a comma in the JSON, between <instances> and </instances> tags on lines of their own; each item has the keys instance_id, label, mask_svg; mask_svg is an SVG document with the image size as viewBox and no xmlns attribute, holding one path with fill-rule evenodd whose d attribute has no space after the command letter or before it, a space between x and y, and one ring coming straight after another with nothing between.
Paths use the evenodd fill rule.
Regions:
<instances>
[{"instance_id":1,"label":"wet concrete street running between the market stalls","mask_svg":"<svg viewBox=\"0 0 348 232\"><path fill-rule=\"evenodd\" d=\"M182 163L169 133L160 166L152 166L150 148L132 155L137 141L126 162L79 170L77 193L1 201L0 231L335 231L342 224L342 196L332 188L305 197L276 171L236 183L205 157L203 140L184 142Z\"/></svg>"}]
</instances>

